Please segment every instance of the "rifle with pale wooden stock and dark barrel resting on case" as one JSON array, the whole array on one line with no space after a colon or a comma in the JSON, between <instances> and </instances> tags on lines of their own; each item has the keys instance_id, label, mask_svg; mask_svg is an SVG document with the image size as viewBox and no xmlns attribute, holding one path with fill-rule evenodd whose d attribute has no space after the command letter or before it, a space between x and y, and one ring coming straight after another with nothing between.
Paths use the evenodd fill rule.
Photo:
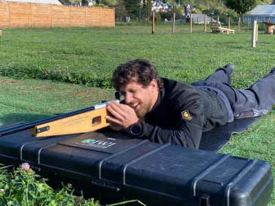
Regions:
<instances>
[{"instance_id":1,"label":"rifle with pale wooden stock and dark barrel resting on case","mask_svg":"<svg viewBox=\"0 0 275 206\"><path fill-rule=\"evenodd\" d=\"M115 101L120 102L119 100ZM30 129L30 134L33 137L72 135L98 130L109 126L109 123L105 119L107 115L107 103L102 102L78 111L7 128L0 131L0 137L27 129Z\"/></svg>"}]
</instances>

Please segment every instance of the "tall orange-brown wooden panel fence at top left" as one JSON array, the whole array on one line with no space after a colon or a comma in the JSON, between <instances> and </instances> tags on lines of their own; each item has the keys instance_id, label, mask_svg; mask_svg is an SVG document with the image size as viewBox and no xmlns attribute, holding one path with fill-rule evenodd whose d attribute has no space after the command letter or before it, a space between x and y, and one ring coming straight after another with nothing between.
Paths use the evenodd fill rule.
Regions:
<instances>
[{"instance_id":1,"label":"tall orange-brown wooden panel fence at top left","mask_svg":"<svg viewBox=\"0 0 275 206\"><path fill-rule=\"evenodd\" d=\"M114 8L0 1L0 28L114 27Z\"/></svg>"}]
</instances>

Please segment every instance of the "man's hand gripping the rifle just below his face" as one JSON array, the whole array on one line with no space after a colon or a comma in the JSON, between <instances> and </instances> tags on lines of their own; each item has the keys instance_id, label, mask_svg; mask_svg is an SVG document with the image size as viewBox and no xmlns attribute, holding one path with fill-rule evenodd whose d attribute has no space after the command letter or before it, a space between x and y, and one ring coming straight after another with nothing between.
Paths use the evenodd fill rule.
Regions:
<instances>
[{"instance_id":1,"label":"man's hand gripping the rifle just below his face","mask_svg":"<svg viewBox=\"0 0 275 206\"><path fill-rule=\"evenodd\" d=\"M107 104L109 115L106 116L107 122L113 130L127 129L132 124L139 121L133 108L126 104L112 101Z\"/></svg>"}]
</instances>

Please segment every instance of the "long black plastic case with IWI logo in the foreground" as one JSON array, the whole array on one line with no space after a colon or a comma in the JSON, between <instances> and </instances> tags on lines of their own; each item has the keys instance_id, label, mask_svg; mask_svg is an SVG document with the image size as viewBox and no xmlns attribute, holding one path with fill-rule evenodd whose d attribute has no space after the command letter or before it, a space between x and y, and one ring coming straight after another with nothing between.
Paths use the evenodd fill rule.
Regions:
<instances>
[{"instance_id":1,"label":"long black plastic case with IWI logo in the foreground","mask_svg":"<svg viewBox=\"0 0 275 206\"><path fill-rule=\"evenodd\" d=\"M35 138L24 130L0 137L0 162L28 162L34 170L76 180L88 185L86 192L98 191L101 203L263 206L270 201L267 161L109 136Z\"/></svg>"}]
</instances>

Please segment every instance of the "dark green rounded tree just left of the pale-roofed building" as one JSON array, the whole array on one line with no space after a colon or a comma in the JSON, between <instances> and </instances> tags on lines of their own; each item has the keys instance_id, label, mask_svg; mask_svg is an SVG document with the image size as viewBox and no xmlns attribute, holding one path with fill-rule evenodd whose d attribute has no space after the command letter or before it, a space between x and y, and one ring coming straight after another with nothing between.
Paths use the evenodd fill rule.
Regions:
<instances>
[{"instance_id":1,"label":"dark green rounded tree just left of the pale-roofed building","mask_svg":"<svg viewBox=\"0 0 275 206\"><path fill-rule=\"evenodd\" d=\"M225 5L240 16L256 7L257 0L225 0Z\"/></svg>"}]
</instances>

